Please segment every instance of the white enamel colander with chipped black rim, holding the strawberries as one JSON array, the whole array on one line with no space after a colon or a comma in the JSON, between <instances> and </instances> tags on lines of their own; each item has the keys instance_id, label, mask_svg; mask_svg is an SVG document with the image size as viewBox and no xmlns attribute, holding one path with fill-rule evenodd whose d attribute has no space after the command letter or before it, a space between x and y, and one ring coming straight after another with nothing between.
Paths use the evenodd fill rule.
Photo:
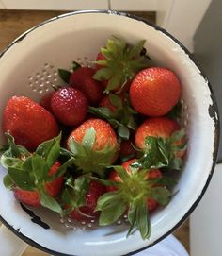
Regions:
<instances>
[{"instance_id":1,"label":"white enamel colander with chipped black rim, holding the strawberries","mask_svg":"<svg viewBox=\"0 0 222 256\"><path fill-rule=\"evenodd\" d=\"M69 69L71 61L92 65L112 35L128 43L146 40L151 60L174 71L182 82L182 124L188 148L175 196L165 209L151 215L151 237L139 232L126 237L123 218L108 227L73 223L47 209L25 207L5 189L0 169L1 221L25 242L54 255L131 255L165 238L195 209L212 177L216 162L219 121L209 82L189 52L158 26L116 11L76 11L31 28L0 55L0 112L12 95L39 101L42 94L61 85L57 69ZM3 143L1 136L1 143Z\"/></svg>"}]
</instances>

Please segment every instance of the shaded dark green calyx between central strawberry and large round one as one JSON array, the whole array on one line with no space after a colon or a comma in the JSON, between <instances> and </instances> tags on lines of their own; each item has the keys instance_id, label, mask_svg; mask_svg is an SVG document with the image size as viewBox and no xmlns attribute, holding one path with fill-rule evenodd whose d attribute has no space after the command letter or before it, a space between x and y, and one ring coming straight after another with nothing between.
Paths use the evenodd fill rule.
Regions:
<instances>
[{"instance_id":1,"label":"shaded dark green calyx between central strawberry and large round one","mask_svg":"<svg viewBox=\"0 0 222 256\"><path fill-rule=\"evenodd\" d=\"M124 140L129 140L130 130L136 130L137 125L135 122L134 111L130 107L129 99L125 94L124 102L116 94L108 94L109 100L113 106L116 107L115 111L110 111L107 107L89 107L88 112L107 120L113 128L118 130L119 137Z\"/></svg>"}]
</instances>

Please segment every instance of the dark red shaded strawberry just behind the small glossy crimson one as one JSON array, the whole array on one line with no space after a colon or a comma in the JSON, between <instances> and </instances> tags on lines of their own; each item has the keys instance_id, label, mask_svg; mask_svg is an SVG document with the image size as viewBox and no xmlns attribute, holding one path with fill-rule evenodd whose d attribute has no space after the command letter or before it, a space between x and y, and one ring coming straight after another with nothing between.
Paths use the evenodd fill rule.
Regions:
<instances>
[{"instance_id":1,"label":"dark red shaded strawberry just behind the small glossy crimson one","mask_svg":"<svg viewBox=\"0 0 222 256\"><path fill-rule=\"evenodd\" d=\"M84 93L91 105L97 104L103 96L102 84L92 78L95 72L92 68L80 67L69 78L69 85Z\"/></svg>"}]
</instances>

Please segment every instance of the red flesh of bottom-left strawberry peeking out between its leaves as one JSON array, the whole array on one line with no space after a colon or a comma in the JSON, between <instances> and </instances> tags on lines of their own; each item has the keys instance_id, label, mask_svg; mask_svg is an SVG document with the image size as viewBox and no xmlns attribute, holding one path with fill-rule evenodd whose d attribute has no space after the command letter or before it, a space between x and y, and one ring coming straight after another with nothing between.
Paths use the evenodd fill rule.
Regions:
<instances>
[{"instance_id":1,"label":"red flesh of bottom-left strawberry peeking out between its leaves","mask_svg":"<svg viewBox=\"0 0 222 256\"><path fill-rule=\"evenodd\" d=\"M49 176L56 173L57 169L60 167L60 163L56 162L49 170ZM45 183L45 191L49 196L56 197L62 189L63 177L58 177L53 181ZM24 204L31 206L40 206L40 194L38 191L28 191L23 190L18 187L13 189L16 199L23 202Z\"/></svg>"}]
</instances>

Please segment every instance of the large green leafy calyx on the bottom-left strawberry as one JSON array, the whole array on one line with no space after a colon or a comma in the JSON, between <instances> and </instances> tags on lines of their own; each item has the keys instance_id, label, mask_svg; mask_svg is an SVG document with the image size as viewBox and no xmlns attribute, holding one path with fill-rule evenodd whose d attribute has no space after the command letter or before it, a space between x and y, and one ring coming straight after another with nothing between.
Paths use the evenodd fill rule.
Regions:
<instances>
[{"instance_id":1,"label":"large green leafy calyx on the bottom-left strawberry","mask_svg":"<svg viewBox=\"0 0 222 256\"><path fill-rule=\"evenodd\" d=\"M55 198L49 196L45 183L62 177L67 167L73 163L73 158L64 162L53 175L49 170L57 162L62 148L60 147L61 134L43 142L35 152L30 153L24 146L16 145L14 138L6 133L8 149L1 156L1 164L8 170L4 184L8 189L20 188L26 191L37 191L40 195L40 204L56 213L62 214L62 209Z\"/></svg>"}]
</instances>

